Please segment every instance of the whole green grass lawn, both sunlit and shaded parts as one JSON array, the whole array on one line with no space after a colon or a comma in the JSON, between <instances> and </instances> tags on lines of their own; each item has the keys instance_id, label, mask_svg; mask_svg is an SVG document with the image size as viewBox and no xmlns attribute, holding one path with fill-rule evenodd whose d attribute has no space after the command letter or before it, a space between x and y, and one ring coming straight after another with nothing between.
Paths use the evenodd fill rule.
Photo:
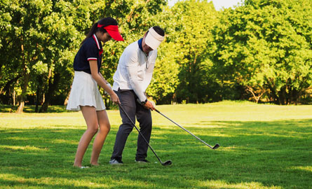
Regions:
<instances>
[{"instance_id":1,"label":"whole green grass lawn, both sunlit and shaded parts","mask_svg":"<svg viewBox=\"0 0 312 189\"><path fill-rule=\"evenodd\" d=\"M0 113L0 188L312 188L312 106L249 102L157 107L212 151L153 112L149 164L134 162L137 132L130 134L124 165L108 164L121 123L108 111L111 132L100 167L72 167L86 130L81 112ZM88 165L88 148L83 165Z\"/></svg>"}]
</instances>

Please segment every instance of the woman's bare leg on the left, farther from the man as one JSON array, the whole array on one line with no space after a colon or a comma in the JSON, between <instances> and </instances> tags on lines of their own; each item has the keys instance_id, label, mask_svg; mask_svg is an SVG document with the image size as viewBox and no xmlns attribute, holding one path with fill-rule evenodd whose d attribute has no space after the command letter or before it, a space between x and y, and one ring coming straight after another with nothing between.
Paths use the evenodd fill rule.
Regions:
<instances>
[{"instance_id":1,"label":"woman's bare leg on the left, farther from the man","mask_svg":"<svg viewBox=\"0 0 312 189\"><path fill-rule=\"evenodd\" d=\"M90 144L90 141L97 133L98 123L97 123L97 112L93 106L80 106L83 118L86 120L87 130L83 133L76 152L75 167L81 167L81 162L83 155L86 153L86 150Z\"/></svg>"}]
</instances>

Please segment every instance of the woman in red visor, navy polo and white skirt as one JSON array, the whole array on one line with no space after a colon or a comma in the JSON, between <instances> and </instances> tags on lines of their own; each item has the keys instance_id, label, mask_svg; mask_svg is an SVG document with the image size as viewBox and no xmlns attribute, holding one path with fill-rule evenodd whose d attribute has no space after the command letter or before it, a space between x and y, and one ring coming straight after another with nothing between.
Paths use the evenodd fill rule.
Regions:
<instances>
[{"instance_id":1,"label":"woman in red visor, navy polo and white skirt","mask_svg":"<svg viewBox=\"0 0 312 189\"><path fill-rule=\"evenodd\" d=\"M96 133L90 165L98 165L97 160L110 130L109 118L97 85L100 85L109 94L112 102L120 103L118 96L111 90L109 83L100 73L102 43L106 43L111 38L116 41L123 41L116 20L114 18L103 18L90 29L86 38L81 42L81 47L74 59L75 75L72 90L69 94L67 110L81 110L87 125L87 130L79 141L74 167L87 168L83 167L81 162L91 139Z\"/></svg>"}]
</instances>

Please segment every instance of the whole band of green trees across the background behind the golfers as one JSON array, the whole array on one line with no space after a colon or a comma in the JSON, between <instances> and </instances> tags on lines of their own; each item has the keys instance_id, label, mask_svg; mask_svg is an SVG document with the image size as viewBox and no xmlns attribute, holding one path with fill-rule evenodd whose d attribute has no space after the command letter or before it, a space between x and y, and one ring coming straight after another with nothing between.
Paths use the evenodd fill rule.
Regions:
<instances>
[{"instance_id":1,"label":"whole band of green trees across the background behind the golfers","mask_svg":"<svg viewBox=\"0 0 312 189\"><path fill-rule=\"evenodd\" d=\"M172 7L165 0L2 0L0 13L0 103L18 104L19 112L25 103L36 104L36 112L66 103L74 55L107 16L125 39L103 47L101 71L110 83L127 45L149 27L165 29L147 89L158 104L311 102L312 1L245 0L216 11L207 0Z\"/></svg>"}]
</instances>

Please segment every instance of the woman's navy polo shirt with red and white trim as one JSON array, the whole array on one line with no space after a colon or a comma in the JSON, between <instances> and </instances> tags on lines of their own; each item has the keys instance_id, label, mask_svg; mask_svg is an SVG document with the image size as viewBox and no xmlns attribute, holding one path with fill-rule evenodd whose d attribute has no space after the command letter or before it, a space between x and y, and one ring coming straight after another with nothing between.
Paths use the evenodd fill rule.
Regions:
<instances>
[{"instance_id":1,"label":"woman's navy polo shirt with red and white trim","mask_svg":"<svg viewBox=\"0 0 312 189\"><path fill-rule=\"evenodd\" d=\"M87 38L81 45L74 59L74 70L91 73L89 60L97 60L97 71L100 71L102 63L102 43L93 34L92 37Z\"/></svg>"}]
</instances>

